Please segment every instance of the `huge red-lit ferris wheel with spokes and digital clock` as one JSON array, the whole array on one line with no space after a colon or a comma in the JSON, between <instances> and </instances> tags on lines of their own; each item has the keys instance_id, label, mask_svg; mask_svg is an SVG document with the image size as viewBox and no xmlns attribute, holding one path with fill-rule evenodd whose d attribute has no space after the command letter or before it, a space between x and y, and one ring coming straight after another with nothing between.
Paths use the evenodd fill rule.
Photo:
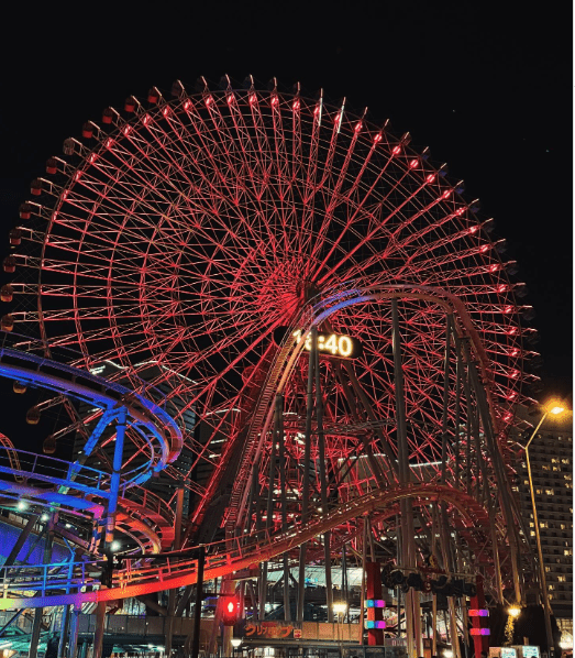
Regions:
<instances>
[{"instance_id":1,"label":"huge red-lit ferris wheel with spokes and digital clock","mask_svg":"<svg viewBox=\"0 0 575 658\"><path fill-rule=\"evenodd\" d=\"M258 91L251 79L130 97L123 112L109 108L81 140L66 140L65 157L33 182L4 268L37 272L5 295L36 306L20 306L4 325L35 336L30 349L78 350L75 365L111 363L112 376L133 376L134 386L155 365L153 384L166 384L177 413L197 419L186 437L195 528L222 486L231 493L219 518L248 527L256 490L270 501L269 523L280 508L269 493L280 489L275 430L264 419L283 340L311 327L305 309L363 290L362 303L317 325L321 428L317 413L306 428L311 355L302 350L290 365L279 413L284 487L296 501L322 469L331 500L365 493L378 478L392 485L385 473L399 450L399 368L413 476L461 484L472 469L472 491L469 481L485 478L474 424L490 424L502 446L520 398L520 309L488 222L409 142L345 102L275 84ZM471 363L489 420L469 393ZM308 482L318 500L320 489ZM300 506L288 500L285 518Z\"/></svg>"}]
</instances>

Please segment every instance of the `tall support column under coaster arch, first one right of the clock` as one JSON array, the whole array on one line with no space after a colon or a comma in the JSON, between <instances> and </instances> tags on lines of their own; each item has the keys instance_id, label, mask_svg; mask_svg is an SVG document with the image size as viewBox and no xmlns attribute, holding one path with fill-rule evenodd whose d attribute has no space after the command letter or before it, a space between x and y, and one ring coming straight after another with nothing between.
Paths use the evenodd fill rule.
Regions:
<instances>
[{"instance_id":1,"label":"tall support column under coaster arch, first one right of the clock","mask_svg":"<svg viewBox=\"0 0 575 658\"><path fill-rule=\"evenodd\" d=\"M391 338L394 351L394 383L396 390L396 414L397 414L397 461L399 467L399 483L406 486L411 481L409 470L409 449L407 442L406 426L406 402L403 397L403 371L401 364L401 336L399 333L399 314L397 299L391 299ZM400 502L401 509L401 562L405 567L416 567L416 545L413 527L413 507L410 498ZM405 597L406 610L406 635L408 658L421 656L423 647L421 644L421 610L414 610L413 590L410 588ZM416 626L414 626L416 625ZM416 627L419 632L414 633ZM418 646L414 646L413 637L418 637ZM417 654L416 654L417 651Z\"/></svg>"}]
</instances>

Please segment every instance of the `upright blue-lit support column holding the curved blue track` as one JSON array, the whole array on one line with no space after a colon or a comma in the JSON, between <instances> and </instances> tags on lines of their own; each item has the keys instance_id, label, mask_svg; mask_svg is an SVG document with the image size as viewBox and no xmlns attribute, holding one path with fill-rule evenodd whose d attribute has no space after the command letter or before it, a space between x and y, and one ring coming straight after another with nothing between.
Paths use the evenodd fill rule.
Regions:
<instances>
[{"instance_id":1,"label":"upright blue-lit support column holding the curved blue track","mask_svg":"<svg viewBox=\"0 0 575 658\"><path fill-rule=\"evenodd\" d=\"M112 474L110 476L110 491L108 494L108 509L106 516L106 535L103 540L103 553L107 560L112 560L112 541L115 525L115 513L118 511L118 494L120 493L120 475L123 462L124 437L125 437L126 408L120 407L115 425L114 457ZM111 569L111 564L108 567ZM100 585L102 589L104 584ZM103 628L106 624L106 601L98 603L96 610L96 629L93 632L92 658L101 658L103 646Z\"/></svg>"}]
</instances>

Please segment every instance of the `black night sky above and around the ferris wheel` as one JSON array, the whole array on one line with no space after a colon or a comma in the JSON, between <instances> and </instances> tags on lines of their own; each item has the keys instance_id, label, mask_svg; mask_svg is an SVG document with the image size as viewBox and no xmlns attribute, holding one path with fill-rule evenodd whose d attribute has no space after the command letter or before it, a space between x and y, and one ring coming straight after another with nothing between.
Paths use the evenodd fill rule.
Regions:
<instances>
[{"instance_id":1,"label":"black night sky above and around the ferris wheel","mask_svg":"<svg viewBox=\"0 0 575 658\"><path fill-rule=\"evenodd\" d=\"M476 1L131 3L125 13L104 2L62 15L46 7L4 24L4 255L30 182L107 106L122 109L126 96L144 97L153 85L169 96L175 79L193 88L199 76L214 86L223 74L239 83L252 74L262 86L275 76L285 89L299 80L307 96L323 88L335 103L367 106L375 123L390 119L396 134L409 131L412 146L429 146L454 182L465 180L465 197L495 218L504 257L518 261L527 283L541 396L571 401L570 14L552 3ZM11 408L0 431L29 430Z\"/></svg>"}]
</instances>

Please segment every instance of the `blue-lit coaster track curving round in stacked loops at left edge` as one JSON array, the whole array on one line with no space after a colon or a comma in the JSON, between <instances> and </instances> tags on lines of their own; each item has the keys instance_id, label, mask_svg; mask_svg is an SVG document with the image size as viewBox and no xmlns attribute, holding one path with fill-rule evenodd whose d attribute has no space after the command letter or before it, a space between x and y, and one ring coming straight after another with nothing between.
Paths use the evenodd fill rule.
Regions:
<instances>
[{"instance_id":1,"label":"blue-lit coaster track curving round in stacked loops at left edge","mask_svg":"<svg viewBox=\"0 0 575 658\"><path fill-rule=\"evenodd\" d=\"M0 349L0 375L25 385L42 387L89 403L100 414L96 430L76 462L16 450L0 440L0 493L4 500L24 500L32 507L58 511L67 516L101 524L111 497L117 498L115 527L131 536L146 553L167 550L175 535L173 511L156 494L141 486L153 473L175 461L181 449L181 432L157 404L129 388L90 373L9 348ZM118 408L126 409L126 424L147 448L147 461L120 474L112 491L111 474L86 465L107 423ZM98 551L97 534L90 540L75 537L57 524L58 534L88 553Z\"/></svg>"}]
</instances>

